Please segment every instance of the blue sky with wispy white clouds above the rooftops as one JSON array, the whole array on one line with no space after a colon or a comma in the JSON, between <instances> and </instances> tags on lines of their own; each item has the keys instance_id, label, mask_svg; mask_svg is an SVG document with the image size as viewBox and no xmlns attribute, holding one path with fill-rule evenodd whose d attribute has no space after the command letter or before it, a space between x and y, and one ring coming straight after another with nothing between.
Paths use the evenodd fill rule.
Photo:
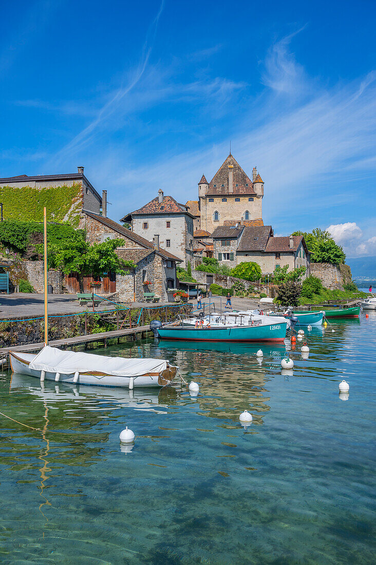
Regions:
<instances>
[{"instance_id":1,"label":"blue sky with wispy white clouds above the rooftops","mask_svg":"<svg viewBox=\"0 0 376 565\"><path fill-rule=\"evenodd\" d=\"M0 176L74 172L119 220L232 154L275 234L376 255L373 1L3 2Z\"/></svg>"}]
</instances>

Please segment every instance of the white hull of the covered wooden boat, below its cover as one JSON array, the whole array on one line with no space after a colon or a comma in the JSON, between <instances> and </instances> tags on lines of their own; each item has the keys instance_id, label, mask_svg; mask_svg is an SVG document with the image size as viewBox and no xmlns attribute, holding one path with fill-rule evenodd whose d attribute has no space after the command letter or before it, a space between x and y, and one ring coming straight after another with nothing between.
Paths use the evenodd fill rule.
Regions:
<instances>
[{"instance_id":1,"label":"white hull of the covered wooden boat, below its cover","mask_svg":"<svg viewBox=\"0 0 376 565\"><path fill-rule=\"evenodd\" d=\"M9 352L10 366L14 373L21 373L22 375L29 375L31 377L36 377L41 379L41 371L31 369L29 363L31 362L34 355L31 354L18 354L13 351ZM165 386L175 377L177 367L168 367L166 371L162 373L150 373L148 375L139 375L135 377L122 377L117 375L103 375L98 373L95 375L93 373L80 373L78 379L75 381L74 373L70 375L64 375L61 373L59 375L59 383L69 383L69 384L80 384L80 385L95 385L95 386L123 386L129 388L129 384L133 385L135 388L145 387L150 388L150 386ZM55 372L46 372L45 380L55 381ZM131 379L133 378L133 383Z\"/></svg>"}]
</instances>

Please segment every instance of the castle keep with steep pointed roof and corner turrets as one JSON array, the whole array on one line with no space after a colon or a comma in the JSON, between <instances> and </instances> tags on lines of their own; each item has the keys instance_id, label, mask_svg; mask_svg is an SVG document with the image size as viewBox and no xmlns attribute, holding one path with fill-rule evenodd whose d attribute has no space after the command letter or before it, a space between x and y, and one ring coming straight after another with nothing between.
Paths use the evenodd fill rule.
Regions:
<instances>
[{"instance_id":1,"label":"castle keep with steep pointed roof and corner turrets","mask_svg":"<svg viewBox=\"0 0 376 565\"><path fill-rule=\"evenodd\" d=\"M256 167L252 180L231 155L208 182L202 175L198 182L198 201L188 201L186 206L195 214L196 225L213 232L226 221L259 220L262 223L263 181ZM235 220L234 220L235 218Z\"/></svg>"}]
</instances>

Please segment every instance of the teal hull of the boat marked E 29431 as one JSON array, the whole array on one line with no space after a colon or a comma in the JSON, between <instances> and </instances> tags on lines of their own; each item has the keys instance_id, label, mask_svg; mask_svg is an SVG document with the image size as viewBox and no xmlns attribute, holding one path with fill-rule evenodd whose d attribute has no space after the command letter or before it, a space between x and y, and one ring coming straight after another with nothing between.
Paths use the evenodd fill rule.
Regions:
<instances>
[{"instance_id":1,"label":"teal hull of the boat marked E 29431","mask_svg":"<svg viewBox=\"0 0 376 565\"><path fill-rule=\"evenodd\" d=\"M286 323L230 326L217 328L187 328L163 327L158 328L159 337L163 340L183 341L279 341L286 337Z\"/></svg>"}]
</instances>

